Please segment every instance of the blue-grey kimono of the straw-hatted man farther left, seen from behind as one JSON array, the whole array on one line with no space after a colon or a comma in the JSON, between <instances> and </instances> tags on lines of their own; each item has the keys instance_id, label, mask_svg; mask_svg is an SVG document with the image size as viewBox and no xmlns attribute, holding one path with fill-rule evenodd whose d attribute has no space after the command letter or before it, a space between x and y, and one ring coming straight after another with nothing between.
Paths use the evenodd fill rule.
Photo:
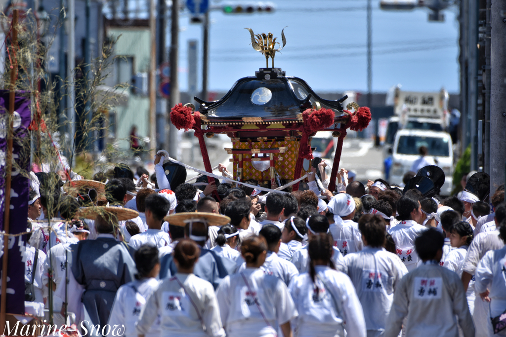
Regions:
<instances>
[{"instance_id":1,"label":"blue-grey kimono of the straw-hatted man farther left, seen from behind","mask_svg":"<svg viewBox=\"0 0 506 337\"><path fill-rule=\"evenodd\" d=\"M134 280L135 262L127 245L112 235L101 234L96 240L83 240L70 246L72 274L86 290L82 295L85 320L104 326L120 285ZM90 329L88 331L91 333ZM93 331L95 333L95 331Z\"/></svg>"}]
</instances>

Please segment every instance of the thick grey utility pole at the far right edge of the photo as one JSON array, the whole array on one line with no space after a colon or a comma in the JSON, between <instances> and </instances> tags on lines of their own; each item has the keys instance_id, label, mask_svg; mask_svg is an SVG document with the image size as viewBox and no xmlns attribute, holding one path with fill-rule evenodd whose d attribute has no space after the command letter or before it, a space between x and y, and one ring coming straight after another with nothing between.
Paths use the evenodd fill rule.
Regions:
<instances>
[{"instance_id":1,"label":"thick grey utility pole at the far right edge of the photo","mask_svg":"<svg viewBox=\"0 0 506 337\"><path fill-rule=\"evenodd\" d=\"M488 6L491 2L491 7ZM490 72L490 111L489 111L489 148L490 148L490 195L500 184L504 183L504 164L506 163L506 3L502 0L487 1L487 17L490 13L491 69ZM488 21L488 20L487 20ZM488 22L487 22L488 24ZM488 25L487 25L488 26Z\"/></svg>"}]
</instances>

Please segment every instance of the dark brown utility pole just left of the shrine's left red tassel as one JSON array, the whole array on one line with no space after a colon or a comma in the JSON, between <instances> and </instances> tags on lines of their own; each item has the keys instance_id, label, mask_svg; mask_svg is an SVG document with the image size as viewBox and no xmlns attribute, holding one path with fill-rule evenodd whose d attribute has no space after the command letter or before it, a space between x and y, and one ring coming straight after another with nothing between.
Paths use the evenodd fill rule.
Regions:
<instances>
[{"instance_id":1,"label":"dark brown utility pole just left of the shrine's left red tassel","mask_svg":"<svg viewBox=\"0 0 506 337\"><path fill-rule=\"evenodd\" d=\"M172 0L171 10L171 100L169 108L172 109L180 103L179 83L178 83L178 50L179 50L179 0ZM178 153L178 129L174 124L170 124L168 134L168 154L173 158Z\"/></svg>"}]
</instances>

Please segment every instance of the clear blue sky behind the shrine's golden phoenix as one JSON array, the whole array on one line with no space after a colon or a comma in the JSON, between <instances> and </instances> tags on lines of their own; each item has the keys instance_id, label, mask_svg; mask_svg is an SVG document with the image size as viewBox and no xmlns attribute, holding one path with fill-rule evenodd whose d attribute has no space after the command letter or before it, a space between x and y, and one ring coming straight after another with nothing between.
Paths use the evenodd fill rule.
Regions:
<instances>
[{"instance_id":1,"label":"clear blue sky behind the shrine's golden phoenix","mask_svg":"<svg viewBox=\"0 0 506 337\"><path fill-rule=\"evenodd\" d=\"M184 1L184 0L181 0ZM237 2L235 2L237 3ZM305 79L319 92L367 89L365 0L273 0L273 14L210 12L210 91L226 91L239 78L255 75L265 58L249 45L255 33L271 31L286 46L274 65L287 76ZM213 5L228 4L224 1ZM458 22L455 7L444 11L445 22L428 21L428 10L387 12L372 1L372 90L385 92L401 84L403 90L458 92ZM187 89L187 43L198 40L200 25L180 17L180 88ZM201 64L198 83L202 79Z\"/></svg>"}]
</instances>

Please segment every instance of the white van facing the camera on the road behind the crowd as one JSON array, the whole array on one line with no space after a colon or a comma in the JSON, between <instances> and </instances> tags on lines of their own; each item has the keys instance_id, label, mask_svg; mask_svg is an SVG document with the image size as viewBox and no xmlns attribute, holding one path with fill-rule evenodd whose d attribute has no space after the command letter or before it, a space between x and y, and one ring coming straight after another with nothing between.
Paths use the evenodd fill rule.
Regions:
<instances>
[{"instance_id":1,"label":"white van facing the camera on the road behind the crowd","mask_svg":"<svg viewBox=\"0 0 506 337\"><path fill-rule=\"evenodd\" d=\"M427 156L434 158L436 165L443 169L445 182L441 187L441 195L450 196L453 151L451 137L447 132L415 129L398 130L392 149L390 183L403 186L402 177L411 169L413 162L420 157L418 149L421 146L428 149Z\"/></svg>"}]
</instances>

